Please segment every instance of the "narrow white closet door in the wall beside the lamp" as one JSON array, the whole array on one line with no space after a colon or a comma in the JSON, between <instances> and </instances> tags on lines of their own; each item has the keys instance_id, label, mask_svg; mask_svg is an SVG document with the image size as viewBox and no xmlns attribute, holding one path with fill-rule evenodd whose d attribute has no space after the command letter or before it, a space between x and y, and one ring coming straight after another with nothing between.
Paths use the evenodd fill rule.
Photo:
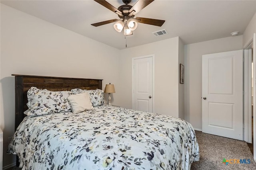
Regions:
<instances>
[{"instance_id":1,"label":"narrow white closet door in the wall beside the lamp","mask_svg":"<svg viewBox=\"0 0 256 170\"><path fill-rule=\"evenodd\" d=\"M132 108L153 112L153 57L133 58L132 65Z\"/></svg>"}]
</instances>

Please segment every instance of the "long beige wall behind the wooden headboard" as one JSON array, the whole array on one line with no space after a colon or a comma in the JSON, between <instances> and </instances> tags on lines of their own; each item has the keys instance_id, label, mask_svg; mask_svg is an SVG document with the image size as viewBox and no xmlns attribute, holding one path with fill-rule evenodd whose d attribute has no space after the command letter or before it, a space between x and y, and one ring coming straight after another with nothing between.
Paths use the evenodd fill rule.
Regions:
<instances>
[{"instance_id":1,"label":"long beige wall behind the wooden headboard","mask_svg":"<svg viewBox=\"0 0 256 170\"><path fill-rule=\"evenodd\" d=\"M14 134L14 76L27 74L99 78L118 86L120 50L1 4L0 127L4 131L3 166ZM114 94L118 99L118 93ZM115 104L115 102L113 102Z\"/></svg>"}]
</instances>

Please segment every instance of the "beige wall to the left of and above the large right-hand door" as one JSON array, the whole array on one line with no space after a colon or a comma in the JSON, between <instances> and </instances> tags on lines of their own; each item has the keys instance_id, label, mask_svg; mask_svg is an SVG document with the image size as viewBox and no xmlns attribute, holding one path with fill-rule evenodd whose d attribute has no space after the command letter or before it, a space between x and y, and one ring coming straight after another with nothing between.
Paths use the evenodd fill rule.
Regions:
<instances>
[{"instance_id":1,"label":"beige wall to the left of and above the large right-hand door","mask_svg":"<svg viewBox=\"0 0 256 170\"><path fill-rule=\"evenodd\" d=\"M243 49L243 36L185 45L185 120L202 129L202 55Z\"/></svg>"}]
</instances>

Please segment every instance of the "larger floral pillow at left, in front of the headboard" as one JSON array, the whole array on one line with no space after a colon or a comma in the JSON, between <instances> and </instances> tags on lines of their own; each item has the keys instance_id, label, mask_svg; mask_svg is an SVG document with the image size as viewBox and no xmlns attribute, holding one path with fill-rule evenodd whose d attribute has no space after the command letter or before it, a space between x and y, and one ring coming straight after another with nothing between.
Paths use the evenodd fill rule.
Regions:
<instances>
[{"instance_id":1,"label":"larger floral pillow at left, in front of the headboard","mask_svg":"<svg viewBox=\"0 0 256 170\"><path fill-rule=\"evenodd\" d=\"M68 91L52 92L46 89L31 87L28 90L28 109L27 115L38 116L51 113L71 112L68 103L68 96L72 94Z\"/></svg>"}]
</instances>

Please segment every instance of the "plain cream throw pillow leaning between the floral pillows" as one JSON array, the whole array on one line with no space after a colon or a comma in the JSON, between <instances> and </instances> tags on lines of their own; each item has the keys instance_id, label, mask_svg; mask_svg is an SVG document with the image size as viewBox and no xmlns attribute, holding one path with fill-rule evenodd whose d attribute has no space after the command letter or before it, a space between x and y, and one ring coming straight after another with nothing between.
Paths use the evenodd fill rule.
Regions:
<instances>
[{"instance_id":1,"label":"plain cream throw pillow leaning between the floral pillows","mask_svg":"<svg viewBox=\"0 0 256 170\"><path fill-rule=\"evenodd\" d=\"M93 108L87 92L68 96L72 113L80 113Z\"/></svg>"}]
</instances>

